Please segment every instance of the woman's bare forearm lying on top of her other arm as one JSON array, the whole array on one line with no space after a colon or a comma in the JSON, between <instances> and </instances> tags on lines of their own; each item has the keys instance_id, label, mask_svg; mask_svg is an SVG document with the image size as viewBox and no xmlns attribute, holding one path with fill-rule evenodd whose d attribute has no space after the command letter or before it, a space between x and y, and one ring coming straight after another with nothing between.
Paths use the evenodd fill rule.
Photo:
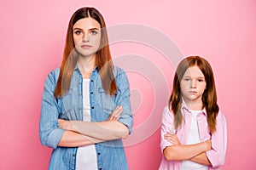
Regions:
<instances>
[{"instance_id":1,"label":"woman's bare forearm lying on top of her other arm","mask_svg":"<svg viewBox=\"0 0 256 170\"><path fill-rule=\"evenodd\" d=\"M71 121L71 131L82 133L86 136L90 136L96 139L113 140L113 139L125 139L129 130L121 122L106 121L106 122L81 122Z\"/></svg>"}]
</instances>

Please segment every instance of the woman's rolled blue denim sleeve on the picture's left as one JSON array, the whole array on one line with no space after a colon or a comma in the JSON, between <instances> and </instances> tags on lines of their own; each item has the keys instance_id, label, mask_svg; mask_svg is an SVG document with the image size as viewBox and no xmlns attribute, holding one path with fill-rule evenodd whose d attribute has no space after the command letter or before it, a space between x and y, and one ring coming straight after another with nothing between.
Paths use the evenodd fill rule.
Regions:
<instances>
[{"instance_id":1,"label":"woman's rolled blue denim sleeve on the picture's left","mask_svg":"<svg viewBox=\"0 0 256 170\"><path fill-rule=\"evenodd\" d=\"M44 93L41 104L39 136L43 145L56 148L64 130L58 127L58 106L54 96L55 71L51 71L44 83Z\"/></svg>"}]
</instances>

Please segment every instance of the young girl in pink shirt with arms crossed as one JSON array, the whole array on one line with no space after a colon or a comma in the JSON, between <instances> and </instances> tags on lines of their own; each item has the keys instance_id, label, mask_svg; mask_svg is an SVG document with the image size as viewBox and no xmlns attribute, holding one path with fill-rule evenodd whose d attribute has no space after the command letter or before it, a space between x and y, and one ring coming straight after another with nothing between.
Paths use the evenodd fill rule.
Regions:
<instances>
[{"instance_id":1,"label":"young girl in pink shirt with arms crossed","mask_svg":"<svg viewBox=\"0 0 256 170\"><path fill-rule=\"evenodd\" d=\"M159 169L220 169L227 148L226 126L211 65L198 56L183 59L163 111Z\"/></svg>"}]
</instances>

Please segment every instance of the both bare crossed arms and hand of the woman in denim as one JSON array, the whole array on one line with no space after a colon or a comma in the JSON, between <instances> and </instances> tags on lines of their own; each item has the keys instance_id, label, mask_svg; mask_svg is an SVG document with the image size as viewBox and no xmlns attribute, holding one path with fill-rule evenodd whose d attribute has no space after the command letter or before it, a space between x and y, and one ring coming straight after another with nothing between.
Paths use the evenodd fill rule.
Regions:
<instances>
[{"instance_id":1,"label":"both bare crossed arms and hand of the woman in denim","mask_svg":"<svg viewBox=\"0 0 256 170\"><path fill-rule=\"evenodd\" d=\"M117 108L105 122L65 121L59 119L59 127L65 129L58 146L78 147L96 144L106 140L125 139L129 134L128 127L118 122L122 106Z\"/></svg>"}]
</instances>

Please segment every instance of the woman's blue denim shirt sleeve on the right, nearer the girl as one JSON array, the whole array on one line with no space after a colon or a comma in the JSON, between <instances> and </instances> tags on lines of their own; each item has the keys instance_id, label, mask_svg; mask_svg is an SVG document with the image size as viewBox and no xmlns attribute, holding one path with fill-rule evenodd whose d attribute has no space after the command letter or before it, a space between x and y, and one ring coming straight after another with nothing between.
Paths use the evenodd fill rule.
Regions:
<instances>
[{"instance_id":1,"label":"woman's blue denim shirt sleeve on the right, nearer the girl","mask_svg":"<svg viewBox=\"0 0 256 170\"><path fill-rule=\"evenodd\" d=\"M131 133L133 116L131 112L130 87L125 71L119 69L116 82L119 90L116 105L123 105L123 112L120 115L119 122L125 124L129 129L129 133Z\"/></svg>"}]
</instances>

